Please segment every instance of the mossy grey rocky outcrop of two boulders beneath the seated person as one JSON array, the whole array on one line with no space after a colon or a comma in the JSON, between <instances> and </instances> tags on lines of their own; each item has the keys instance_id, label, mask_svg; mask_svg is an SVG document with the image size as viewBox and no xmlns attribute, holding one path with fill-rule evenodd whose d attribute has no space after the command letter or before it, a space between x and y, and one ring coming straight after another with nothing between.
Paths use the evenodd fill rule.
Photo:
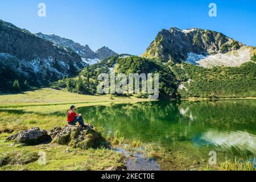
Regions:
<instances>
[{"instance_id":1,"label":"mossy grey rocky outcrop of two boulders beneath the seated person","mask_svg":"<svg viewBox=\"0 0 256 182\"><path fill-rule=\"evenodd\" d=\"M35 127L11 135L7 140L25 144L40 144L50 142L53 139L58 144L82 149L103 146L106 140L94 129L94 126L90 124L85 126L67 125L63 128L56 126L49 131L49 134L46 130Z\"/></svg>"}]
</instances>

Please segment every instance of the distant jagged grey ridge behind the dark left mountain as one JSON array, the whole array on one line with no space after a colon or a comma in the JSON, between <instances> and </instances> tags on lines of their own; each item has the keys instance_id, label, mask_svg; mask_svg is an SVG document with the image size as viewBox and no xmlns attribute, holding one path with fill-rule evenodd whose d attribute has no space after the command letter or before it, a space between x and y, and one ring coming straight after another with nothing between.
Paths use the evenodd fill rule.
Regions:
<instances>
[{"instance_id":1,"label":"distant jagged grey ridge behind the dark left mountain","mask_svg":"<svg viewBox=\"0 0 256 182\"><path fill-rule=\"evenodd\" d=\"M88 45L81 46L81 44L75 43L73 42L73 40L61 38L60 36L54 34L46 35L38 33L36 35L42 39L48 40L60 46L64 46L71 49L72 51L76 52L79 56L81 56L84 63L89 65L95 64L100 60L106 59L107 57L117 55L117 53L115 53L114 51L105 46L94 52L92 51L92 49L90 49Z\"/></svg>"}]
</instances>

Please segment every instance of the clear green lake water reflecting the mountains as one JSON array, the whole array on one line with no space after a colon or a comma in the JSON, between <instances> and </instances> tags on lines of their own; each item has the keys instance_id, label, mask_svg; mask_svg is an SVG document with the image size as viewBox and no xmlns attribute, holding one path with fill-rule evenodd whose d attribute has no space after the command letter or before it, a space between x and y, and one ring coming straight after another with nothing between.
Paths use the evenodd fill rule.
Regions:
<instances>
[{"instance_id":1,"label":"clear green lake water reflecting the mountains","mask_svg":"<svg viewBox=\"0 0 256 182\"><path fill-rule=\"evenodd\" d=\"M82 107L86 121L165 150L219 152L223 158L256 155L256 101L158 101Z\"/></svg>"}]
</instances>

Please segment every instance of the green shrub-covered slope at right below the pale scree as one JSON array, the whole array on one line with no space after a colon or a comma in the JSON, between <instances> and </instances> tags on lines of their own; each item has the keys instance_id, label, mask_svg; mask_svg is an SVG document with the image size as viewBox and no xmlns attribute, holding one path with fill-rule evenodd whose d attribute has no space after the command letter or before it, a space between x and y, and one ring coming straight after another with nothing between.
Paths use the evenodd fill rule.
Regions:
<instances>
[{"instance_id":1,"label":"green shrub-covered slope at right below the pale scree","mask_svg":"<svg viewBox=\"0 0 256 182\"><path fill-rule=\"evenodd\" d=\"M182 63L172 67L181 97L256 97L256 64L210 69Z\"/></svg>"}]
</instances>

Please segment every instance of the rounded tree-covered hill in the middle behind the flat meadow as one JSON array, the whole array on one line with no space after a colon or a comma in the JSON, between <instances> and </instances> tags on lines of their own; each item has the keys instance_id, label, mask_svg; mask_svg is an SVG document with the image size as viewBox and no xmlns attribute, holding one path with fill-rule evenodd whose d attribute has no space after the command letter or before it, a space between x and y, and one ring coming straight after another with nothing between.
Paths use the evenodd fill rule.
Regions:
<instances>
[{"instance_id":1,"label":"rounded tree-covered hill in the middle behind the flat meadow","mask_svg":"<svg viewBox=\"0 0 256 182\"><path fill-rule=\"evenodd\" d=\"M101 73L159 73L160 97L176 98L177 80L174 73L166 65L158 61L138 56L112 56L98 64L82 69L75 78L65 78L54 82L52 88L67 88L70 92L97 93L97 77Z\"/></svg>"}]
</instances>

